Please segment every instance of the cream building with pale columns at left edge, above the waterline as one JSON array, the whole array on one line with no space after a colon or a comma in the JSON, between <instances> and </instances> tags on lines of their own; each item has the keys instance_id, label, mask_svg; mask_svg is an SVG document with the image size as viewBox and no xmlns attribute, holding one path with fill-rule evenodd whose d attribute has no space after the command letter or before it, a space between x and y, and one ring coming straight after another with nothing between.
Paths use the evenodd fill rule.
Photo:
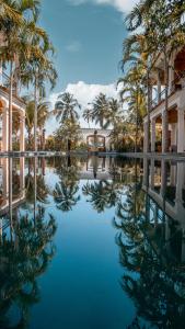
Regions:
<instances>
[{"instance_id":1,"label":"cream building with pale columns at left edge, above the waterline","mask_svg":"<svg viewBox=\"0 0 185 329\"><path fill-rule=\"evenodd\" d=\"M16 86L13 88L12 99L12 126L13 139L20 145L20 150L24 151L24 126L25 126L25 104L18 97ZM2 73L0 68L0 151L9 150L9 77Z\"/></svg>"}]
</instances>

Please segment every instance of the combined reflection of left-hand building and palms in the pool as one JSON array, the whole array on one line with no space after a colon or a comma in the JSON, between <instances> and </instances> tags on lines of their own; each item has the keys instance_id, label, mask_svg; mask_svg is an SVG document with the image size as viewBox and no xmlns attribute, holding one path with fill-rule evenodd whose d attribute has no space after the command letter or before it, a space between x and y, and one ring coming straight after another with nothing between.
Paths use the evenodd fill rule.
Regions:
<instances>
[{"instance_id":1,"label":"combined reflection of left-hand building and palms in the pool","mask_svg":"<svg viewBox=\"0 0 185 329\"><path fill-rule=\"evenodd\" d=\"M37 277L55 253L56 222L36 204L39 194L45 200L46 192L39 175L37 189L35 159L33 163L31 178L31 163L25 174L23 158L1 159L0 328L4 329L28 328L30 309L41 299Z\"/></svg>"}]
</instances>

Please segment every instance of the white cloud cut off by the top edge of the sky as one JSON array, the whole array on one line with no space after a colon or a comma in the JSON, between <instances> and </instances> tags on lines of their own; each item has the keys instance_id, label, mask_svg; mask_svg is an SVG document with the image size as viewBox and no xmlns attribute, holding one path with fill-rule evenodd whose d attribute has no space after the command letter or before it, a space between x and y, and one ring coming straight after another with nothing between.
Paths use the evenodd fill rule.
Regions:
<instances>
[{"instance_id":1,"label":"white cloud cut off by the top edge of the sky","mask_svg":"<svg viewBox=\"0 0 185 329\"><path fill-rule=\"evenodd\" d=\"M95 4L108 4L116 8L120 12L129 12L138 0L68 0L73 5L83 4L86 2Z\"/></svg>"}]
</instances>

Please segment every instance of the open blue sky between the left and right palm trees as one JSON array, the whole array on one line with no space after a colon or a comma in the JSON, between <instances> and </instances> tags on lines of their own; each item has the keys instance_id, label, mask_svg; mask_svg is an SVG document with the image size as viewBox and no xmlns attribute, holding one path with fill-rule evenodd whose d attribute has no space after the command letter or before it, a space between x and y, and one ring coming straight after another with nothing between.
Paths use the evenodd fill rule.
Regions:
<instances>
[{"instance_id":1,"label":"open blue sky between the left and right palm trees","mask_svg":"<svg viewBox=\"0 0 185 329\"><path fill-rule=\"evenodd\" d=\"M68 90L82 105L100 91L115 95L122 44L126 36L124 15L136 0L43 0L42 21L56 47L59 75L55 92ZM83 95L81 94L83 90ZM91 91L91 98L88 95Z\"/></svg>"}]
</instances>

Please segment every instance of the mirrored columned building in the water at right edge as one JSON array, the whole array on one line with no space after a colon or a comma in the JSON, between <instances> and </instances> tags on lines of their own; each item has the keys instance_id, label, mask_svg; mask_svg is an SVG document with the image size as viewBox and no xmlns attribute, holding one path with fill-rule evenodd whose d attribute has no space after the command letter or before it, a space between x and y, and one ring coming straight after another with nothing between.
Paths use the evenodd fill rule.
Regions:
<instances>
[{"instance_id":1,"label":"mirrored columned building in the water at right edge","mask_svg":"<svg viewBox=\"0 0 185 329\"><path fill-rule=\"evenodd\" d=\"M153 201L154 222L165 220L165 239L171 240L177 225L181 259L185 261L185 162L143 160L143 190ZM151 208L150 208L151 212ZM172 228L173 227L173 228Z\"/></svg>"}]
</instances>

